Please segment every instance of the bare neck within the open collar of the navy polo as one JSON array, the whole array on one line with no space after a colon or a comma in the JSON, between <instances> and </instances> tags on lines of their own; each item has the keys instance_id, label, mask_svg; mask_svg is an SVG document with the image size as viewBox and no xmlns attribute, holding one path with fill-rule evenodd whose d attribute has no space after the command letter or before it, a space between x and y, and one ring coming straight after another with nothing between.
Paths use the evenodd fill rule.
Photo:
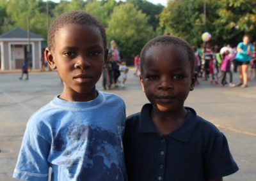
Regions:
<instances>
[{"instance_id":1,"label":"bare neck within the open collar of the navy polo","mask_svg":"<svg viewBox=\"0 0 256 181\"><path fill-rule=\"evenodd\" d=\"M187 113L185 108L175 112L160 112L159 110L156 110L156 108L152 108L151 117L157 131L160 134L165 135L172 133L172 131L180 127L184 122Z\"/></svg>"}]
</instances>

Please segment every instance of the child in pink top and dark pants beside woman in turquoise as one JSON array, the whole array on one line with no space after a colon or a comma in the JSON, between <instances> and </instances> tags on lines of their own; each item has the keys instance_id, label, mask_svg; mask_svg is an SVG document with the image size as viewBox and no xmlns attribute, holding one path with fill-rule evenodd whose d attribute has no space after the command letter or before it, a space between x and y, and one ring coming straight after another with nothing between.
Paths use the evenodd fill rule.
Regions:
<instances>
[{"instance_id":1,"label":"child in pink top and dark pants beside woman in turquoise","mask_svg":"<svg viewBox=\"0 0 256 181\"><path fill-rule=\"evenodd\" d=\"M223 47L221 48L221 57L223 57L223 60L221 61L221 67L220 67L220 70L223 72L221 84L222 86L225 86L227 84L226 76L227 76L227 73L229 73L230 81L228 86L236 87L236 85L232 83L232 71L230 69L231 61L234 59L234 57L236 57L236 53L230 55L230 48Z\"/></svg>"}]
</instances>

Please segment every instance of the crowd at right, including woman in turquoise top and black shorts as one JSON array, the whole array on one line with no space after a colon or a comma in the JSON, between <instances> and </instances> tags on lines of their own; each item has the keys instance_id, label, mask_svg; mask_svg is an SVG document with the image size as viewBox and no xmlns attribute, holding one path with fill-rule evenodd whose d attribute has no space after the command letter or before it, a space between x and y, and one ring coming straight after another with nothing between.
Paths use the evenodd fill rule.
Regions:
<instances>
[{"instance_id":1,"label":"crowd at right, including woman in turquoise top and black shorts","mask_svg":"<svg viewBox=\"0 0 256 181\"><path fill-rule=\"evenodd\" d=\"M248 81L252 80L253 72L256 80L256 43L250 43L250 37L245 35L243 41L237 46L224 45L211 46L210 42L204 43L204 48L194 47L195 71L198 78L212 84L228 85L229 87L248 87ZM250 69L248 74L248 69ZM233 83L233 73L239 75L239 83ZM227 81L227 75L229 81ZM199 83L199 82L197 82Z\"/></svg>"}]
</instances>

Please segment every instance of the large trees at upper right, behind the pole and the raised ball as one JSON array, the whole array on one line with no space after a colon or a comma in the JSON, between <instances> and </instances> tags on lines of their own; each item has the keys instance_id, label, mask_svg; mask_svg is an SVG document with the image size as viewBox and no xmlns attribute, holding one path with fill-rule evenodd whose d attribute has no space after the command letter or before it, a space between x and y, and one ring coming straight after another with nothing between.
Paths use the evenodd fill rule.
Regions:
<instances>
[{"instance_id":1,"label":"large trees at upper right, behind the pole and the raised ball","mask_svg":"<svg viewBox=\"0 0 256 181\"><path fill-rule=\"evenodd\" d=\"M255 0L173 0L162 11L160 25L193 45L202 43L204 31L212 34L212 44L236 44L244 34L255 38L256 9L253 7L256 7Z\"/></svg>"}]
</instances>

